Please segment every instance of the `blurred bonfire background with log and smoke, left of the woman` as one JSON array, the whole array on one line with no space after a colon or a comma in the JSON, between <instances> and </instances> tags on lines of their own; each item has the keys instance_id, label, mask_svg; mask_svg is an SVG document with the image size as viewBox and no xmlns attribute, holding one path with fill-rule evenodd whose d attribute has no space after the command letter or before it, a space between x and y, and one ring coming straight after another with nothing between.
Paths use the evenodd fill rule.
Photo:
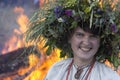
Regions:
<instances>
[{"instance_id":1,"label":"blurred bonfire background with log and smoke, left of the woman","mask_svg":"<svg viewBox=\"0 0 120 80\"><path fill-rule=\"evenodd\" d=\"M43 1L0 0L0 80L43 80L59 60L56 54L46 56L45 50L28 53L33 46L25 47L23 40L27 23Z\"/></svg>"}]
</instances>

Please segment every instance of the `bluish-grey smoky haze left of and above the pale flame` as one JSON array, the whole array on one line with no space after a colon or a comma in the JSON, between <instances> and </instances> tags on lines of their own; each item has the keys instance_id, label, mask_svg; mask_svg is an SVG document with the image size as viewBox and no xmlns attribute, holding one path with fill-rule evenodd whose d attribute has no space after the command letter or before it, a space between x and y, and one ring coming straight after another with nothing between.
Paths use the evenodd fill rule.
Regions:
<instances>
[{"instance_id":1,"label":"bluish-grey smoky haze left of and above the pale flame","mask_svg":"<svg viewBox=\"0 0 120 80\"><path fill-rule=\"evenodd\" d=\"M16 21L18 13L14 12L15 7L22 7L24 14L29 18L35 9L39 8L33 3L34 0L0 0L0 55L7 42L13 34L14 29L18 29L19 25Z\"/></svg>"}]
</instances>

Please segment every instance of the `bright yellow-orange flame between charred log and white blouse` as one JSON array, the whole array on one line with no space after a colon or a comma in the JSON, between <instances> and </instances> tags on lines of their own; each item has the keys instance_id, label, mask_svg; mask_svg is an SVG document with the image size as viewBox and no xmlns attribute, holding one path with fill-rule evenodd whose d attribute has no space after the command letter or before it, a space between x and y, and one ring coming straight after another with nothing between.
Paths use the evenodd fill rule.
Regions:
<instances>
[{"instance_id":1,"label":"bright yellow-orange flame between charred log and white blouse","mask_svg":"<svg viewBox=\"0 0 120 80\"><path fill-rule=\"evenodd\" d=\"M27 76L24 80L43 80L49 68L57 61L61 60L59 58L59 49L55 49L52 51L50 56L45 54L46 48L43 48L44 41L38 43L38 48L41 52L40 58L29 58L31 68L34 67L34 70L31 72L29 76ZM35 60L35 61L34 61ZM33 62L35 64L33 64Z\"/></svg>"}]
</instances>

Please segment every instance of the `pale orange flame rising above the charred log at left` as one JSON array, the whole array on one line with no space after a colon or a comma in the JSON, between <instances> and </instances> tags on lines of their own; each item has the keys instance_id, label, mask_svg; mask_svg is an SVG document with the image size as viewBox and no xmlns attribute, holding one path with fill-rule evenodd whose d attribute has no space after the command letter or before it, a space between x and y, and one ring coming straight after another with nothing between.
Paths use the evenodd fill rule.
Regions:
<instances>
[{"instance_id":1,"label":"pale orange flame rising above the charred log at left","mask_svg":"<svg viewBox=\"0 0 120 80\"><path fill-rule=\"evenodd\" d=\"M19 24L20 28L19 29L14 29L13 30L13 35L11 38L5 43L5 46L3 50L1 51L2 54L8 53L10 51L16 50L20 47L23 47L23 40L22 39L22 34L26 31L26 24L28 22L27 16L25 16L24 9L21 7L15 7L14 12L19 13L19 16L17 18L17 23Z\"/></svg>"}]
</instances>

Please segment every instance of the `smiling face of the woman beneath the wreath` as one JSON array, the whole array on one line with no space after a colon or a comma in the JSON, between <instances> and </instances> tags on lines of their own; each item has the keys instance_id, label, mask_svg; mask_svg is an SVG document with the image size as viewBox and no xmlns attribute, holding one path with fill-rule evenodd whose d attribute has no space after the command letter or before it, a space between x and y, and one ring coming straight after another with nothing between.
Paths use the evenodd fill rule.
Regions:
<instances>
[{"instance_id":1,"label":"smiling face of the woman beneath the wreath","mask_svg":"<svg viewBox=\"0 0 120 80\"><path fill-rule=\"evenodd\" d=\"M89 60L96 54L99 48L100 38L77 27L69 43L71 44L74 58Z\"/></svg>"}]
</instances>

